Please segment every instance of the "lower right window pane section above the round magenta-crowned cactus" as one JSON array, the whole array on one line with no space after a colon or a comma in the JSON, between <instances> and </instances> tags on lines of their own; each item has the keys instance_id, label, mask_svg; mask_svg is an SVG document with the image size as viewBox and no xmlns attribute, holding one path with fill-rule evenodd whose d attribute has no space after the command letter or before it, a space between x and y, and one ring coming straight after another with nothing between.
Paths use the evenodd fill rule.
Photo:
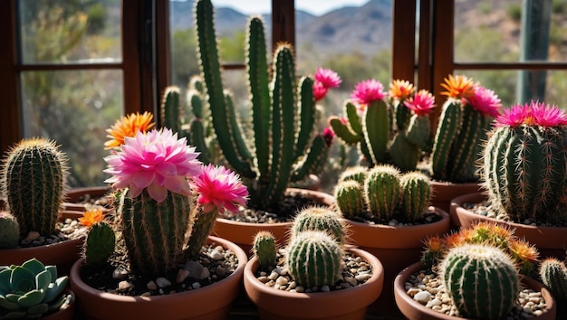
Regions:
<instances>
[{"instance_id":1,"label":"lower right window pane section above the round magenta-crowned cactus","mask_svg":"<svg viewBox=\"0 0 567 320\"><path fill-rule=\"evenodd\" d=\"M492 89L502 99L505 108L515 103L539 100L555 104L560 108L567 108L567 78L565 71L462 71L456 70L455 74L465 74L467 77L479 81L488 89ZM521 77L538 79L536 85L521 85ZM522 92L521 88L524 89Z\"/></svg>"}]
</instances>

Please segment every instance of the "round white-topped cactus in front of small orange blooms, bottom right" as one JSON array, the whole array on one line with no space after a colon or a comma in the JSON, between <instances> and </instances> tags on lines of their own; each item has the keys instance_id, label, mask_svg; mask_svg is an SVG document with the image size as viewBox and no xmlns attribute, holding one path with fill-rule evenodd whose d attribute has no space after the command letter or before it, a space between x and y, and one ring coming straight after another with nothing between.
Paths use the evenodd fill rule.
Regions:
<instances>
[{"instance_id":1,"label":"round white-topped cactus in front of small orange blooms, bottom right","mask_svg":"<svg viewBox=\"0 0 567 320\"><path fill-rule=\"evenodd\" d=\"M503 319L518 298L519 274L514 260L502 249L482 244L452 248L439 270L463 317Z\"/></svg>"}]
</instances>

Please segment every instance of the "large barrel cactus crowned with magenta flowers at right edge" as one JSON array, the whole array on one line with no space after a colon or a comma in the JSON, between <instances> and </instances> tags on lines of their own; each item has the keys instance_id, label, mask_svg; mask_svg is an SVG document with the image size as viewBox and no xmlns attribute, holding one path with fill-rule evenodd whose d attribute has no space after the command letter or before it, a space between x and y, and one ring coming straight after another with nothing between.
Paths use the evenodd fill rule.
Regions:
<instances>
[{"instance_id":1,"label":"large barrel cactus crowned with magenta flowers at right edge","mask_svg":"<svg viewBox=\"0 0 567 320\"><path fill-rule=\"evenodd\" d=\"M498 214L517 222L565 221L567 116L532 102L505 109L488 139L481 177Z\"/></svg>"}]
</instances>

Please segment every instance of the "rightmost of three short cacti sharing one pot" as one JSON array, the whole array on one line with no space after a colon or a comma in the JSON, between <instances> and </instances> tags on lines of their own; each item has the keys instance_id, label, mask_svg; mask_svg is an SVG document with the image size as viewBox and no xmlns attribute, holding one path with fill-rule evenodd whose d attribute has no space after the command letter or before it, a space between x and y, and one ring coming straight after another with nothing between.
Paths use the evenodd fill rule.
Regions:
<instances>
[{"instance_id":1,"label":"rightmost of three short cacti sharing one pot","mask_svg":"<svg viewBox=\"0 0 567 320\"><path fill-rule=\"evenodd\" d=\"M402 189L401 211L406 213L408 221L418 221L428 210L431 195L429 177L419 172L404 174L399 179Z\"/></svg>"}]
</instances>

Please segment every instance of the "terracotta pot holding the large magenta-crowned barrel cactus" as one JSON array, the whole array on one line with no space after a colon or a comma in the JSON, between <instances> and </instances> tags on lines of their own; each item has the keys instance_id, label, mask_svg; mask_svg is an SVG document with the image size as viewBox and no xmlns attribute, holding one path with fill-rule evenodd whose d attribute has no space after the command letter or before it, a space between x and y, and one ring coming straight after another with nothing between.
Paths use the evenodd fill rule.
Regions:
<instances>
[{"instance_id":1,"label":"terracotta pot holding the large magenta-crowned barrel cactus","mask_svg":"<svg viewBox=\"0 0 567 320\"><path fill-rule=\"evenodd\" d=\"M451 202L451 220L459 227L469 228L477 221L492 221L507 225L514 229L514 234L519 238L524 238L536 246L540 252L540 257L555 257L565 259L567 255L567 228L531 226L512 221L503 221L495 218L488 218L483 215L471 212L463 207L464 203L480 203L487 199L485 193L469 193L456 197Z\"/></svg>"}]
</instances>

